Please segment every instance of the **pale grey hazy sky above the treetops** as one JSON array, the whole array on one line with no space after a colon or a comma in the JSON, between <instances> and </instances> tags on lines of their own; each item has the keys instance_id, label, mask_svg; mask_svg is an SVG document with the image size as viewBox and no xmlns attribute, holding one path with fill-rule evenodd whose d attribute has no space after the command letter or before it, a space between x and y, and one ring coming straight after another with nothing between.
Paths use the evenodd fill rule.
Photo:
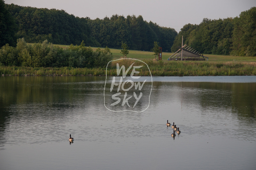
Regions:
<instances>
[{"instance_id":1,"label":"pale grey hazy sky above the treetops","mask_svg":"<svg viewBox=\"0 0 256 170\"><path fill-rule=\"evenodd\" d=\"M256 7L256 0L4 0L7 4L65 10L76 17L90 19L118 14L142 15L147 22L174 28L177 32L188 23L200 24L203 18L237 17Z\"/></svg>"}]
</instances>

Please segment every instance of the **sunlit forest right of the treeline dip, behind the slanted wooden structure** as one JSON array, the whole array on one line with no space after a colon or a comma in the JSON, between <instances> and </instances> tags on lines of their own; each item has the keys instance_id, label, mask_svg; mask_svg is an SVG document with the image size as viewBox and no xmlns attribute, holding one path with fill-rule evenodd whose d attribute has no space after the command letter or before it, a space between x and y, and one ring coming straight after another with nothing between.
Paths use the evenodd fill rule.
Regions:
<instances>
[{"instance_id":1,"label":"sunlit forest right of the treeline dip, behind the slanted wooden structure","mask_svg":"<svg viewBox=\"0 0 256 170\"><path fill-rule=\"evenodd\" d=\"M205 54L256 56L256 7L243 11L239 17L204 18L199 25L186 24L175 37L172 52L188 44Z\"/></svg>"}]
</instances>

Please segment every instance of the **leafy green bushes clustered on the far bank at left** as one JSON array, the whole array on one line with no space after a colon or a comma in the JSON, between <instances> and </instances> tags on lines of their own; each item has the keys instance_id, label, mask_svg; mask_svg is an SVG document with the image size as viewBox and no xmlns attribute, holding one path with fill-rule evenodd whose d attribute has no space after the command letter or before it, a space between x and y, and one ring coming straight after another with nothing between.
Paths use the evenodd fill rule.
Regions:
<instances>
[{"instance_id":1,"label":"leafy green bushes clustered on the far bank at left","mask_svg":"<svg viewBox=\"0 0 256 170\"><path fill-rule=\"evenodd\" d=\"M108 47L93 51L82 43L68 48L53 46L48 40L29 45L24 38L17 40L16 47L0 48L0 65L28 67L74 67L74 68L104 68L113 59Z\"/></svg>"}]
</instances>

